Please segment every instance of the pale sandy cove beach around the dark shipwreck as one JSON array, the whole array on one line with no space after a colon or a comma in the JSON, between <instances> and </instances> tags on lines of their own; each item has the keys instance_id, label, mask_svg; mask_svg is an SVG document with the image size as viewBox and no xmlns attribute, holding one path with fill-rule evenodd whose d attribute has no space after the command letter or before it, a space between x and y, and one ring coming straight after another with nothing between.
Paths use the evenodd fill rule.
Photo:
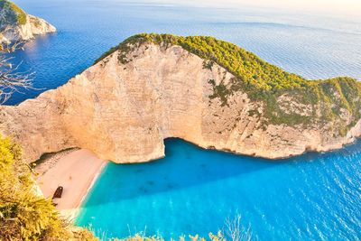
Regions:
<instances>
[{"instance_id":1,"label":"pale sandy cove beach around the dark shipwreck","mask_svg":"<svg viewBox=\"0 0 361 241\"><path fill-rule=\"evenodd\" d=\"M36 181L45 198L51 199L54 191L63 187L61 199L54 199L54 203L62 216L73 219L105 164L88 150L67 151L39 164Z\"/></svg>"}]
</instances>

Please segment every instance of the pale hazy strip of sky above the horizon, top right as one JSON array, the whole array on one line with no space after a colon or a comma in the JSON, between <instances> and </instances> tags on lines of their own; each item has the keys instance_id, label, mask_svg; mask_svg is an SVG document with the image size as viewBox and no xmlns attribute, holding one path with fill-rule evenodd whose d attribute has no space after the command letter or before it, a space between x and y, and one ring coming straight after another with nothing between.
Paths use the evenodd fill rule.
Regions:
<instances>
[{"instance_id":1,"label":"pale hazy strip of sky above the horizon, top right","mask_svg":"<svg viewBox=\"0 0 361 241\"><path fill-rule=\"evenodd\" d=\"M361 0L185 0L188 3L206 5L261 6L293 11L327 14L352 14L361 17ZM180 0L182 2L182 0Z\"/></svg>"}]
</instances>

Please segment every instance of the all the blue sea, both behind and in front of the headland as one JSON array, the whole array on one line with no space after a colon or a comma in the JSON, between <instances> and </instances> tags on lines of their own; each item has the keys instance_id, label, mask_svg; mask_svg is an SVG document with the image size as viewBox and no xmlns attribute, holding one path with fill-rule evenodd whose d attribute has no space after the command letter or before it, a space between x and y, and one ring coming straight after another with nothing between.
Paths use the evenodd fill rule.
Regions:
<instances>
[{"instance_id":1,"label":"all the blue sea, both behind and in front of the headland","mask_svg":"<svg viewBox=\"0 0 361 241\"><path fill-rule=\"evenodd\" d=\"M12 54L36 75L34 89L16 93L9 105L59 87L139 32L211 35L308 79L361 79L361 16L130 0L14 2L58 32ZM208 236L241 215L260 240L360 240L360 165L361 142L267 162L171 139L162 160L109 163L76 223L108 237L145 232L169 239Z\"/></svg>"}]
</instances>

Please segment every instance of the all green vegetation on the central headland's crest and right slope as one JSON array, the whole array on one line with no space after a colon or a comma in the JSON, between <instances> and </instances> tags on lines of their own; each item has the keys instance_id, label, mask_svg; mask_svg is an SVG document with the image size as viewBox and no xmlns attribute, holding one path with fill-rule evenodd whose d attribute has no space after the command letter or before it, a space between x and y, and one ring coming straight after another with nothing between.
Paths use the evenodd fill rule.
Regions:
<instances>
[{"instance_id":1,"label":"all green vegetation on the central headland's crest and right slope","mask_svg":"<svg viewBox=\"0 0 361 241\"><path fill-rule=\"evenodd\" d=\"M252 100L264 103L265 124L323 125L329 121L340 121L339 115L343 110L347 110L351 121L340 123L344 130L338 130L339 134L346 134L361 117L359 111L361 84L356 79L348 77L326 80L304 79L261 60L254 53L245 51L233 43L208 36L137 34L107 51L96 63L115 51L120 51L118 59L121 63L131 61L127 59L127 53L144 42L159 44L164 48L179 45L202 58L204 69L211 70L214 63L217 63L232 73L236 78L232 79L231 83L216 84L214 80L208 79L208 83L212 84L214 89L214 94L209 98L219 98L221 105L227 106L228 97L236 91L245 91ZM311 107L311 115L302 116L292 111L285 113L277 102L278 97L282 95L292 97L294 101Z\"/></svg>"}]
</instances>

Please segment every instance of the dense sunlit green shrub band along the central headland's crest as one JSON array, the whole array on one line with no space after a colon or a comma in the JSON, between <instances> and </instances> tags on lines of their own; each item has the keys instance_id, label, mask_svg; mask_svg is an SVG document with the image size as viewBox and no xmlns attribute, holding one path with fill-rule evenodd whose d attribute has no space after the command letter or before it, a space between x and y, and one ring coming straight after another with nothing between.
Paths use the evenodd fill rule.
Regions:
<instances>
[{"instance_id":1,"label":"dense sunlit green shrub band along the central headland's crest","mask_svg":"<svg viewBox=\"0 0 361 241\"><path fill-rule=\"evenodd\" d=\"M106 52L99 60L116 50L130 50L128 44L153 42L164 45L180 45L185 50L199 55L202 59L212 60L237 77L242 77L248 85L270 90L273 88L291 88L307 85L307 81L295 74L287 73L255 54L239 48L233 43L217 40L208 36L174 36L171 34L142 33L134 35ZM97 60L98 61L98 60Z\"/></svg>"}]
</instances>

